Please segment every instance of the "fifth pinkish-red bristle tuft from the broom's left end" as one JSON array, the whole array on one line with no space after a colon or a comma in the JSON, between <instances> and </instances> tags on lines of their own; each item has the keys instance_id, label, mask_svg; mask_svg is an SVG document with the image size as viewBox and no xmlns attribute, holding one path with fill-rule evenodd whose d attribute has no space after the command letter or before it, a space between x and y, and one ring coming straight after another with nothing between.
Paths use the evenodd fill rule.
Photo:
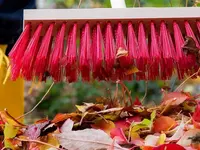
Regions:
<instances>
[{"instance_id":1,"label":"fifth pinkish-red bristle tuft from the broom's left end","mask_svg":"<svg viewBox=\"0 0 200 150\"><path fill-rule=\"evenodd\" d=\"M65 66L66 79L69 83L77 81L77 24L75 23L69 30L67 40L67 49L63 58L63 65Z\"/></svg>"}]
</instances>

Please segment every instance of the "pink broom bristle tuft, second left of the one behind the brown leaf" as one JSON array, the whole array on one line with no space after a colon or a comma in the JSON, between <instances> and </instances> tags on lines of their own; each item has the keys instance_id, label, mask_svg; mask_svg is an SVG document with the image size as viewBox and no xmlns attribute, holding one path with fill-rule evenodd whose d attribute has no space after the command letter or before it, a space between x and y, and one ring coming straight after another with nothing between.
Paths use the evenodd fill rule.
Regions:
<instances>
[{"instance_id":1,"label":"pink broom bristle tuft, second left of the one behind the brown leaf","mask_svg":"<svg viewBox=\"0 0 200 150\"><path fill-rule=\"evenodd\" d=\"M170 41L171 35L166 27L164 21L160 25L160 48L162 51L161 61L161 79L167 80L172 76L173 73L173 46Z\"/></svg>"}]
</instances>

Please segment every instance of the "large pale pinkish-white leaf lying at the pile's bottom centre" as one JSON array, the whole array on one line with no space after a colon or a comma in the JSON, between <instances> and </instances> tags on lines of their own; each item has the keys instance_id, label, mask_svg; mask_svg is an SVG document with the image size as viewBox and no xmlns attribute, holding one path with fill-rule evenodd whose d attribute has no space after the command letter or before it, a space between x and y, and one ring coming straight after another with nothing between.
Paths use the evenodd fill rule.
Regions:
<instances>
[{"instance_id":1,"label":"large pale pinkish-white leaf lying at the pile's bottom centre","mask_svg":"<svg viewBox=\"0 0 200 150\"><path fill-rule=\"evenodd\" d=\"M89 149L109 149L113 146L113 140L102 130L84 129L57 134L60 145L66 149L89 150ZM128 150L122 148L116 142L114 150Z\"/></svg>"}]
</instances>

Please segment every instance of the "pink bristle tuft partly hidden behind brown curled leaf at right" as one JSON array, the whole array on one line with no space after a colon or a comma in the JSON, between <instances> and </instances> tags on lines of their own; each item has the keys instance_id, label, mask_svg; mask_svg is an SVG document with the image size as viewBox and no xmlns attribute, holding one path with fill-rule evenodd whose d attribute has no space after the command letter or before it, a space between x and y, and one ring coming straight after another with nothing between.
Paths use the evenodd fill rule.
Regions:
<instances>
[{"instance_id":1,"label":"pink bristle tuft partly hidden behind brown curled leaf at right","mask_svg":"<svg viewBox=\"0 0 200 150\"><path fill-rule=\"evenodd\" d=\"M196 42L196 46L198 48L200 48L198 40L197 40L197 38L196 38L196 36L195 36L195 34L194 34L189 22L185 21L184 25L185 25L186 35L189 36L189 37L192 37L193 40ZM193 55L193 54L188 54L187 60L188 60L188 65L191 67L191 68L189 68L190 71L188 72L188 75L191 75L191 74L193 74L194 72L196 72L198 70L198 65L196 63L196 56Z\"/></svg>"}]
</instances>

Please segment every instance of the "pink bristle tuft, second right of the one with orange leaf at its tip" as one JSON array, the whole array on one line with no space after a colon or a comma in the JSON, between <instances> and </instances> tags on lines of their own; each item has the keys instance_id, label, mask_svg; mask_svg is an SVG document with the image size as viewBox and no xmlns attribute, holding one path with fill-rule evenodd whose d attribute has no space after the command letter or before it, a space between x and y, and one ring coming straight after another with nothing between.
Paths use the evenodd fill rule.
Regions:
<instances>
[{"instance_id":1,"label":"pink bristle tuft, second right of the one with orange leaf at its tip","mask_svg":"<svg viewBox=\"0 0 200 150\"><path fill-rule=\"evenodd\" d=\"M151 42L150 44L150 67L148 69L148 78L150 80L155 80L159 77L159 65L161 61L161 53L159 49L158 33L155 28L155 23L152 21L150 23L151 29Z\"/></svg>"}]
</instances>

